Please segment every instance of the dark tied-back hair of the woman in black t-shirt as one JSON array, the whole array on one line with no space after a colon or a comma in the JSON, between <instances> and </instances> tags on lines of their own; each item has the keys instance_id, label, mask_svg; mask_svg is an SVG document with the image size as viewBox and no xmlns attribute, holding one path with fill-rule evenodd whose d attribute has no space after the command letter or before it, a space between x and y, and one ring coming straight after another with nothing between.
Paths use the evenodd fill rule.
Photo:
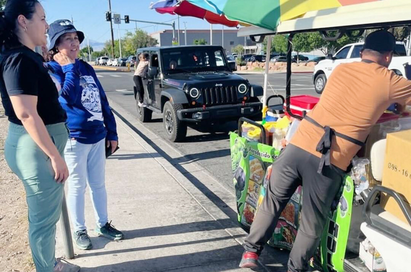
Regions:
<instances>
[{"instance_id":1,"label":"dark tied-back hair of the woman in black t-shirt","mask_svg":"<svg viewBox=\"0 0 411 272\"><path fill-rule=\"evenodd\" d=\"M31 20L38 0L7 0L3 11L0 11L0 46L10 48L20 45L16 35L17 17L24 15Z\"/></svg>"}]
</instances>

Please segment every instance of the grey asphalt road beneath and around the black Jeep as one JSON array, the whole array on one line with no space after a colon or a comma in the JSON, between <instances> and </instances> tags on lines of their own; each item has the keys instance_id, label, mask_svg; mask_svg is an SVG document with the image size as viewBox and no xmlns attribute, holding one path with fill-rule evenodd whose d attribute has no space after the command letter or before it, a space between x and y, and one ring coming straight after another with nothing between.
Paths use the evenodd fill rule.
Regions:
<instances>
[{"instance_id":1,"label":"grey asphalt road beneath and around the black Jeep","mask_svg":"<svg viewBox=\"0 0 411 272\"><path fill-rule=\"evenodd\" d=\"M133 94L133 73L97 70L97 76L104 90L111 100L122 106L125 110L136 116L136 101ZM242 75L250 83L263 85L263 74ZM310 94L317 95L312 84L310 73L293 74L291 91L292 95ZM269 75L269 94L285 95L286 74L275 73ZM137 118L137 116L136 116ZM154 133L164 138L162 115L153 113L153 121L145 126ZM182 143L170 144L177 148L186 161L196 161L206 168L218 181L233 186L230 159L230 141L228 131L237 128L235 122L226 123L214 127L214 132L199 132L192 128L188 129L187 138Z\"/></svg>"}]
</instances>

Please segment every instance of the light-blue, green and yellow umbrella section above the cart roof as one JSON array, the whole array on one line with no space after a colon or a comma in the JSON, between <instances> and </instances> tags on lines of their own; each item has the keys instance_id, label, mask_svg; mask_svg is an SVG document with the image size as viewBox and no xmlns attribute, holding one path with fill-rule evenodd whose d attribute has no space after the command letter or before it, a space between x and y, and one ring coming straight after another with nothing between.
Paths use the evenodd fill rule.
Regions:
<instances>
[{"instance_id":1,"label":"light-blue, green and yellow umbrella section above the cart roof","mask_svg":"<svg viewBox=\"0 0 411 272\"><path fill-rule=\"evenodd\" d=\"M185 0L229 20L276 30L282 21L309 11L382 0Z\"/></svg>"}]
</instances>

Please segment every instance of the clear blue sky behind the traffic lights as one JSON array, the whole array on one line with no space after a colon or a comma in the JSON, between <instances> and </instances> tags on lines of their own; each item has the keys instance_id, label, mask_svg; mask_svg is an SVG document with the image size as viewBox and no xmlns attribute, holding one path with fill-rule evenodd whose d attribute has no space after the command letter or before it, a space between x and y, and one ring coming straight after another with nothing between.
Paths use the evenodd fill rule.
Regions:
<instances>
[{"instance_id":1,"label":"clear blue sky behind the traffic lights","mask_svg":"<svg viewBox=\"0 0 411 272\"><path fill-rule=\"evenodd\" d=\"M121 17L129 15L130 20L165 22L176 21L177 16L160 14L148 7L150 3L157 0L111 0L111 10L113 13L120 13ZM41 0L46 10L47 21L49 24L55 20L68 19L71 16L74 25L78 30L83 31L89 36L90 40L105 42L110 39L110 24L105 21L105 12L108 10L108 0ZM187 29L210 29L210 24L193 17L180 17L180 29L184 29L183 22L187 22ZM127 30L133 31L136 27L135 22L120 25L120 33L123 36ZM153 33L163 29L171 29L168 26L137 23L138 28L142 28L148 33ZM114 25L115 38L118 38L118 26ZM220 25L214 25L213 29L221 29Z\"/></svg>"}]
</instances>

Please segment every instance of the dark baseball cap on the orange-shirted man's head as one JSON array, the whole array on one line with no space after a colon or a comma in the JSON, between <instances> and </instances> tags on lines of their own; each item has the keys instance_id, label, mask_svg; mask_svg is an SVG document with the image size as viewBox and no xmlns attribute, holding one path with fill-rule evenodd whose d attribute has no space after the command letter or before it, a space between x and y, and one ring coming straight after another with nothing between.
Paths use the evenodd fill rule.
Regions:
<instances>
[{"instance_id":1,"label":"dark baseball cap on the orange-shirted man's head","mask_svg":"<svg viewBox=\"0 0 411 272\"><path fill-rule=\"evenodd\" d=\"M378 30L370 33L365 38L363 49L370 49L380 53L395 51L396 40L395 36L386 31Z\"/></svg>"}]
</instances>

